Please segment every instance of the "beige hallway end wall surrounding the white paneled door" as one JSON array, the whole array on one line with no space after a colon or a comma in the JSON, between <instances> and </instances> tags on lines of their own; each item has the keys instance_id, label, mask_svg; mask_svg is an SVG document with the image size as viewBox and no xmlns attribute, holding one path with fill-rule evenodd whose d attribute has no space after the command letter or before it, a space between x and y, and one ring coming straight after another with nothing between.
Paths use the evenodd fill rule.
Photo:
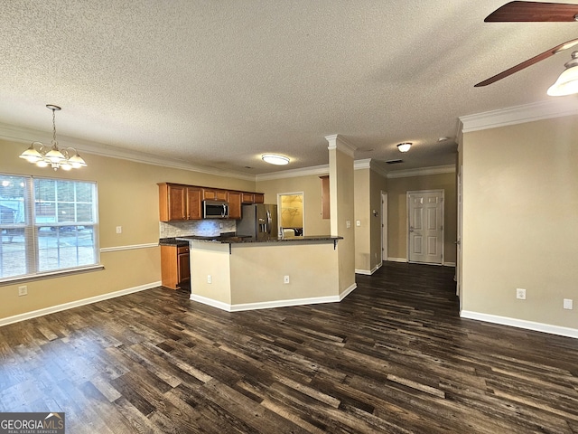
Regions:
<instances>
[{"instance_id":1,"label":"beige hallway end wall surrounding the white paneled door","mask_svg":"<svg viewBox=\"0 0 578 434\"><path fill-rule=\"evenodd\" d=\"M455 173L409 176L387 180L387 256L407 259L407 192L419 190L444 191L444 263L456 259L457 234Z\"/></svg>"}]
</instances>

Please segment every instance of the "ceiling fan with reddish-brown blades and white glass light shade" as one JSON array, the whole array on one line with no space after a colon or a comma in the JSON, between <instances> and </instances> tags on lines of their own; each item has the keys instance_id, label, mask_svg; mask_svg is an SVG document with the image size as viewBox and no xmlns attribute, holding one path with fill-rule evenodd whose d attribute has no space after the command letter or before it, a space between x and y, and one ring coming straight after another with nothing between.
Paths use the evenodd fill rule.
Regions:
<instances>
[{"instance_id":1,"label":"ceiling fan with reddish-brown blades and white glass light shade","mask_svg":"<svg viewBox=\"0 0 578 434\"><path fill-rule=\"evenodd\" d=\"M508 4L499 7L494 12L489 14L484 20L485 23L562 23L572 21L578 21L578 5L525 1L509 2ZM578 39L573 39L556 45L550 50L541 52L537 56L534 56L527 61L518 63L516 66L513 66L506 71L499 72L499 74L496 74L487 80L480 81L480 83L476 84L474 87L478 88L481 86L488 86L489 84L504 79L517 71L521 71L528 66L537 63L538 61L543 61L548 57L557 54L558 52L563 52L564 50L572 48L574 45L578 45ZM573 91L565 89L562 90L564 93L560 93L561 90L553 90L556 85L562 85L568 88L567 84L569 82L569 75L572 76L571 79L578 80L578 71L575 71L578 70L578 52L573 52L572 60L566 62L564 66L566 67L566 70L562 73L560 78L556 80L555 84L548 90L549 95L567 95L569 93L578 92L578 83L574 83L573 87L571 86ZM564 82L559 83L559 81L563 79L564 74Z\"/></svg>"}]
</instances>

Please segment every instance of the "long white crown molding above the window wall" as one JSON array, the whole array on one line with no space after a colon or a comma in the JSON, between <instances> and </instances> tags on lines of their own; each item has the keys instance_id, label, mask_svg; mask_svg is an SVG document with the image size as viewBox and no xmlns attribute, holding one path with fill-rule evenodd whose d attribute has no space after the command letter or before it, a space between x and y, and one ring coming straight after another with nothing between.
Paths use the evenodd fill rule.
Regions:
<instances>
[{"instance_id":1,"label":"long white crown molding above the window wall","mask_svg":"<svg viewBox=\"0 0 578 434\"><path fill-rule=\"evenodd\" d=\"M3 123L0 123L0 138L18 143L26 143L27 145L30 145L30 143L37 140L43 140L45 143L51 142L51 135L46 131L39 131L26 127L15 127L13 125ZM59 146L74 147L75 149L78 149L81 154L107 156L110 158L118 158L121 160L127 160L146 165L161 165L163 167L170 167L173 169L199 172L201 174L228 176L245 181L255 181L255 175L247 175L240 172L228 171L205 165L191 165L188 163L183 163L181 160L163 158L161 156L154 156L152 154L145 154L143 152L130 151L115 146L109 146L102 143L82 140L69 136L59 135L58 142Z\"/></svg>"}]
</instances>

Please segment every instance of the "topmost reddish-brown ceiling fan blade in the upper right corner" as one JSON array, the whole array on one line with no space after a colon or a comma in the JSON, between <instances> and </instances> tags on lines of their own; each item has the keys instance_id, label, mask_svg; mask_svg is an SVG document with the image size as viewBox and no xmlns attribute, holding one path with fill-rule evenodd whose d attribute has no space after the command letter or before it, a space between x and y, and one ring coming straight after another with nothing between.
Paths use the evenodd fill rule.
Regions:
<instances>
[{"instance_id":1,"label":"topmost reddish-brown ceiling fan blade in the upper right corner","mask_svg":"<svg viewBox=\"0 0 578 434\"><path fill-rule=\"evenodd\" d=\"M578 5L542 2L510 2L489 14L486 23L578 21Z\"/></svg>"}]
</instances>

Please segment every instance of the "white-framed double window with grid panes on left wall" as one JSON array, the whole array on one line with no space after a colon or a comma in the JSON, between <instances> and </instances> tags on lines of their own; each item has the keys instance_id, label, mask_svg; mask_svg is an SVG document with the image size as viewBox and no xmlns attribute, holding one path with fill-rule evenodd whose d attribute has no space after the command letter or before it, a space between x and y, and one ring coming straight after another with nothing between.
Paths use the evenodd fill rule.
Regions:
<instances>
[{"instance_id":1,"label":"white-framed double window with grid panes on left wall","mask_svg":"<svg viewBox=\"0 0 578 434\"><path fill-rule=\"evenodd\" d=\"M97 265L97 184L0 174L0 241L0 280Z\"/></svg>"}]
</instances>

